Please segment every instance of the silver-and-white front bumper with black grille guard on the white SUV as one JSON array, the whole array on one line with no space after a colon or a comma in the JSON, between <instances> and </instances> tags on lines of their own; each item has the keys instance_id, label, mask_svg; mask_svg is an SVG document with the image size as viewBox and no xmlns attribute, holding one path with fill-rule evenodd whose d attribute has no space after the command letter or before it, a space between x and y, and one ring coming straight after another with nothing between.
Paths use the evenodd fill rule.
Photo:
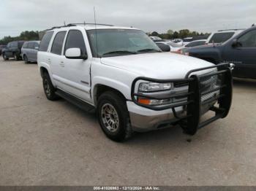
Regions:
<instances>
[{"instance_id":1,"label":"silver-and-white front bumper with black grille guard on the white SUV","mask_svg":"<svg viewBox=\"0 0 256 191\"><path fill-rule=\"evenodd\" d=\"M202 75L195 74L197 71L214 68L217 71ZM216 77L217 85L208 83L208 80L212 77ZM160 99L135 93L135 85L139 80L159 83L186 82L188 85L186 93L167 95L165 97L166 99L186 99L185 101L163 106L162 108L139 104L137 102L138 97ZM186 79L159 80L139 77L132 83L133 102L127 101L132 126L134 130L147 131L179 124L186 133L194 135L198 129L227 116L232 102L232 83L231 69L228 63L189 71ZM210 110L215 113L214 117L201 122L201 116Z\"/></svg>"}]
</instances>

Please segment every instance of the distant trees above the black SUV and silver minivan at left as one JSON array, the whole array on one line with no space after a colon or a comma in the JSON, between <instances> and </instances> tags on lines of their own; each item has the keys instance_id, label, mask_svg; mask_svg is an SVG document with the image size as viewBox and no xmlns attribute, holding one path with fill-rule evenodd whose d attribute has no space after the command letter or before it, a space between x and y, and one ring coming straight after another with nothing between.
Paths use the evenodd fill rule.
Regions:
<instances>
[{"instance_id":1,"label":"distant trees above the black SUV and silver minivan at left","mask_svg":"<svg viewBox=\"0 0 256 191\"><path fill-rule=\"evenodd\" d=\"M4 36L3 39L0 40L0 44L8 44L12 41L30 41L30 40L38 40L39 39L39 31L23 31L19 36Z\"/></svg>"}]
</instances>

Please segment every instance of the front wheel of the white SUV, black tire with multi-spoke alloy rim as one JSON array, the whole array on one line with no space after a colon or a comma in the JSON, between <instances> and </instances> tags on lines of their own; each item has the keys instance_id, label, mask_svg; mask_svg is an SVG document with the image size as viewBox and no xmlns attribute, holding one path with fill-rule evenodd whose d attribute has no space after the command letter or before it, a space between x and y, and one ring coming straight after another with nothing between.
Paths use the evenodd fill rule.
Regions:
<instances>
[{"instance_id":1,"label":"front wheel of the white SUV, black tire with multi-spoke alloy rim","mask_svg":"<svg viewBox=\"0 0 256 191\"><path fill-rule=\"evenodd\" d=\"M119 142L132 136L127 104L121 95L112 91L100 95L97 114L99 125L109 139Z\"/></svg>"}]
</instances>

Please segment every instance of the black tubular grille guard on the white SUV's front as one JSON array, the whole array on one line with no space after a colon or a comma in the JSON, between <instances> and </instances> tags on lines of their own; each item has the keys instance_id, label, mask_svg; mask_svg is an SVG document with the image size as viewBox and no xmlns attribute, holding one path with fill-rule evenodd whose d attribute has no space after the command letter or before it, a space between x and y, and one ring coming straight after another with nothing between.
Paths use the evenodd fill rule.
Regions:
<instances>
[{"instance_id":1,"label":"black tubular grille guard on the white SUV's front","mask_svg":"<svg viewBox=\"0 0 256 191\"><path fill-rule=\"evenodd\" d=\"M132 101L139 106L146 107L148 109L153 109L156 111L164 109L172 109L173 115L176 117L175 124L178 123L184 129L185 133L194 135L198 129L203 128L219 118L224 118L227 116L230 111L230 106L232 102L232 89L233 89L233 79L231 74L232 66L229 63L220 63L216 66L209 66L202 69L194 69L189 71L185 79L151 79L146 77L138 77L132 82ZM193 74L198 71L204 71L208 69L216 68L217 71L213 71L208 74L197 75ZM202 79L209 77L217 77L217 82L219 85L217 87L203 90ZM184 83L189 86L189 90L186 93L178 93L174 95L168 95L164 97L157 97L152 95L141 95L140 93L135 93L135 85L139 80L148 81L148 82L157 82L157 83ZM203 95L208 95L209 93L216 93L214 97L208 98L205 101L202 101L201 98ZM151 98L155 100L170 99L170 98L187 98L187 101L182 101L180 103L171 104L168 106L156 107L156 106L147 106L140 104L137 101L137 97L140 98ZM217 104L213 104L217 103ZM210 104L210 105L209 105ZM212 104L212 106L211 106ZM208 120L200 122L200 118L203 115L202 109L204 106L210 106L208 110L214 112L214 117L211 117ZM187 114L178 116L176 112L177 107L183 107ZM170 122L172 123L172 122ZM173 122L174 123L174 122Z\"/></svg>"}]
</instances>

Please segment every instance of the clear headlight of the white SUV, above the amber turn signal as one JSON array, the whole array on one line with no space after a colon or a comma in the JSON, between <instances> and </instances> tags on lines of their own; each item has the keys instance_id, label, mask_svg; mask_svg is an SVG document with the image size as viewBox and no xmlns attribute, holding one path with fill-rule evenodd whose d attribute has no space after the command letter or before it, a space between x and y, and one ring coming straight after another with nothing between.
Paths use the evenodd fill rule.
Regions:
<instances>
[{"instance_id":1,"label":"clear headlight of the white SUV, above the amber turn signal","mask_svg":"<svg viewBox=\"0 0 256 191\"><path fill-rule=\"evenodd\" d=\"M173 83L155 83L155 82L142 82L139 86L140 92L155 92L162 90L170 90Z\"/></svg>"}]
</instances>

